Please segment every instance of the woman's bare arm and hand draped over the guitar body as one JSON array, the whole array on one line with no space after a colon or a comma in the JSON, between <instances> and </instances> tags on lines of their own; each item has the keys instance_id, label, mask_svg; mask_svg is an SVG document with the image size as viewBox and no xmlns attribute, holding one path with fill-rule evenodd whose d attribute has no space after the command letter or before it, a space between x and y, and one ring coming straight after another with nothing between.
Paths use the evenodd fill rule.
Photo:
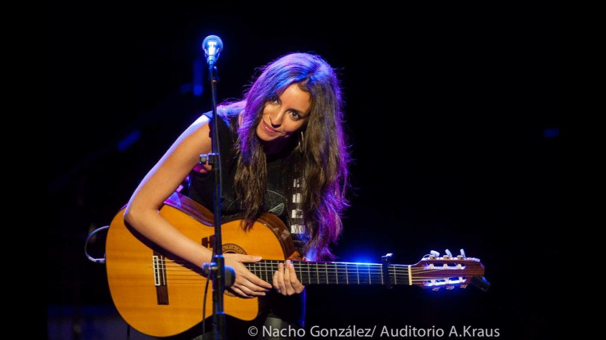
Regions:
<instances>
[{"instance_id":1,"label":"woman's bare arm and hand draped over the guitar body","mask_svg":"<svg viewBox=\"0 0 606 340\"><path fill-rule=\"evenodd\" d=\"M158 209L191 169L198 165L200 154L211 152L211 145L209 119L201 116L148 172L124 212L125 221L150 241L199 267L211 261L212 252L182 234L158 213ZM236 293L252 297L265 295L264 292L271 289L271 284L258 278L242 264L259 261L260 257L240 254L224 256L225 263L236 271L236 283L231 287Z\"/></svg>"}]
</instances>

